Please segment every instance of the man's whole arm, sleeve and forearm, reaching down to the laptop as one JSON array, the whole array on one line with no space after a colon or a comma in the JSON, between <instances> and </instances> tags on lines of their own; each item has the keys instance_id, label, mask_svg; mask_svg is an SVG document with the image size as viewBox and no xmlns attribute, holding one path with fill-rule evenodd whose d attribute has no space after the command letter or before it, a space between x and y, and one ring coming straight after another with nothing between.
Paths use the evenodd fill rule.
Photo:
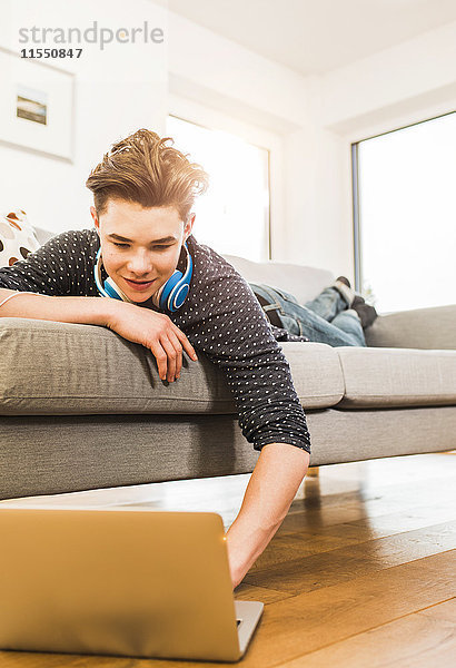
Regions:
<instances>
[{"instance_id":1,"label":"man's whole arm, sleeve and forearm, reaching down to the laptop","mask_svg":"<svg viewBox=\"0 0 456 668\"><path fill-rule=\"evenodd\" d=\"M210 257L205 258L205 253ZM310 434L287 358L251 288L215 252L197 247L195 257L196 266L200 261L208 268L197 277L198 308L185 313L184 331L224 372L242 435L261 451L239 514L227 532L231 579L237 586L287 514L308 468Z\"/></svg>"}]
</instances>

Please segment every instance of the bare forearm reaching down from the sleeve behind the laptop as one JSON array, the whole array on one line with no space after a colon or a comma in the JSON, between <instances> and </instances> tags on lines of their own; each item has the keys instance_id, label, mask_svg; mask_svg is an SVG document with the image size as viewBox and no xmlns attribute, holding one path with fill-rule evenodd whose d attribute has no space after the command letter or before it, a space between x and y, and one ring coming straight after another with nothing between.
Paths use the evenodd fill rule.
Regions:
<instances>
[{"instance_id":1,"label":"bare forearm reaching down from the sleeve behind the laptop","mask_svg":"<svg viewBox=\"0 0 456 668\"><path fill-rule=\"evenodd\" d=\"M284 521L306 475L310 455L289 443L269 443L258 458L240 511L227 532L232 587L237 587Z\"/></svg>"}]
</instances>

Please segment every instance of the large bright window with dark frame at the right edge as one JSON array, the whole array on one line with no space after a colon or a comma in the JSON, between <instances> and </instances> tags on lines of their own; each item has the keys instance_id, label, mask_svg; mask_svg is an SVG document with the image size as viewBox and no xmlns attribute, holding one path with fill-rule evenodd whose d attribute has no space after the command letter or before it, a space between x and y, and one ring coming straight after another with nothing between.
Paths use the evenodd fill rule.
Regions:
<instances>
[{"instance_id":1,"label":"large bright window with dark frame at the right edge","mask_svg":"<svg viewBox=\"0 0 456 668\"><path fill-rule=\"evenodd\" d=\"M454 304L456 114L354 145L354 184L357 289L380 313Z\"/></svg>"}]
</instances>

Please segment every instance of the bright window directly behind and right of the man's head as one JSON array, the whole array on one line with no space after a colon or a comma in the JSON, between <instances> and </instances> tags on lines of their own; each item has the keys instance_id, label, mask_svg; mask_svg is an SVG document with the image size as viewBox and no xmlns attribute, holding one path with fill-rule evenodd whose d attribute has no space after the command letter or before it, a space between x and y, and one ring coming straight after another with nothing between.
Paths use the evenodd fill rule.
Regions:
<instances>
[{"instance_id":1,"label":"bright window directly behind and right of the man's head","mask_svg":"<svg viewBox=\"0 0 456 668\"><path fill-rule=\"evenodd\" d=\"M224 255L268 259L268 150L175 116L168 116L167 135L209 175L208 191L195 200L196 239Z\"/></svg>"}]
</instances>

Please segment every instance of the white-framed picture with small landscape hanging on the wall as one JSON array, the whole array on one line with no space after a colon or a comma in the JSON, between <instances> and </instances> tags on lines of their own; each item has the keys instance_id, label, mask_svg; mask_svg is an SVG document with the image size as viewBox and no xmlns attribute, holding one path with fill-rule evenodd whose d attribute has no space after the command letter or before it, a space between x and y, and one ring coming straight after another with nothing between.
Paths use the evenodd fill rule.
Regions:
<instances>
[{"instance_id":1,"label":"white-framed picture with small landscape hanging on the wall","mask_svg":"<svg viewBox=\"0 0 456 668\"><path fill-rule=\"evenodd\" d=\"M0 47L0 141L72 163L75 80Z\"/></svg>"}]
</instances>

